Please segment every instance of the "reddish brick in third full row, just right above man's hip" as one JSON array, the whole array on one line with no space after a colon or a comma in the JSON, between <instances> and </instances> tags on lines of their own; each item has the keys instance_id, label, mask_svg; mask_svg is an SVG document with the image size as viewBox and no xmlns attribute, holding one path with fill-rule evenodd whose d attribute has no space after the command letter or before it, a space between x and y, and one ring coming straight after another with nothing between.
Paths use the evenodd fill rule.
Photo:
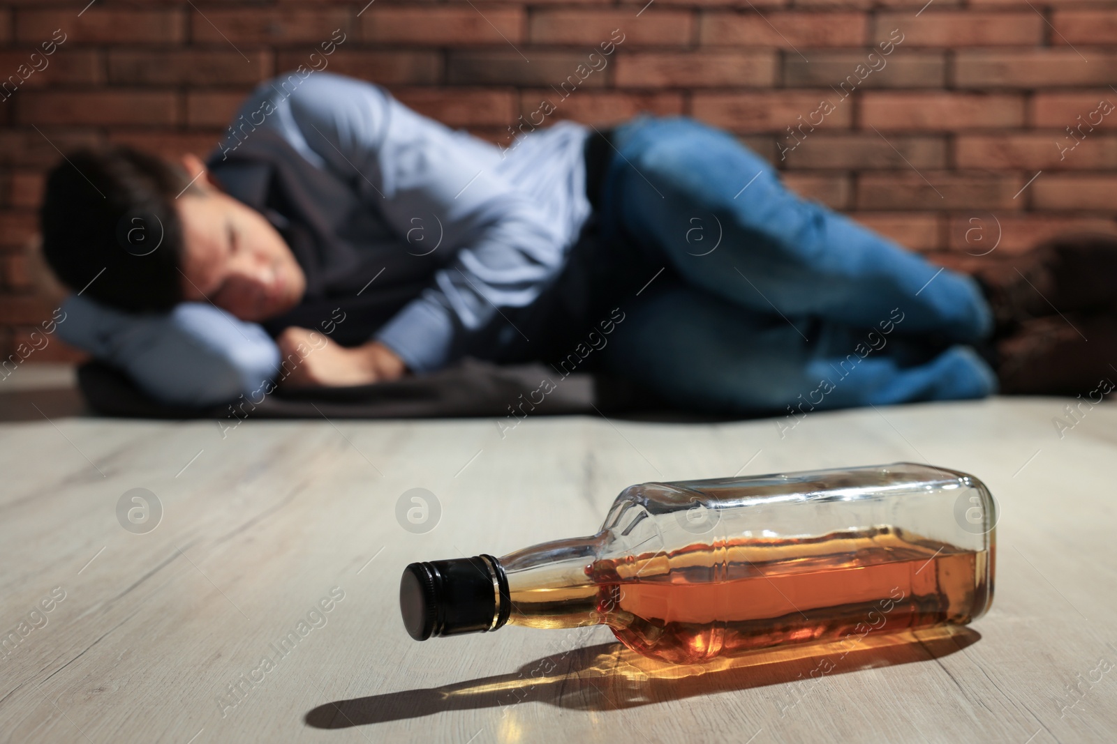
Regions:
<instances>
[{"instance_id":1,"label":"reddish brick in third full row, just right above man's hip","mask_svg":"<svg viewBox=\"0 0 1117 744\"><path fill-rule=\"evenodd\" d=\"M830 102L829 108L822 102ZM805 123L803 132L814 129L844 129L853 120L853 107L834 104L840 102L833 90L762 90L755 93L694 94L691 115L707 124L731 132L776 132L781 136L786 127Z\"/></svg>"}]
</instances>

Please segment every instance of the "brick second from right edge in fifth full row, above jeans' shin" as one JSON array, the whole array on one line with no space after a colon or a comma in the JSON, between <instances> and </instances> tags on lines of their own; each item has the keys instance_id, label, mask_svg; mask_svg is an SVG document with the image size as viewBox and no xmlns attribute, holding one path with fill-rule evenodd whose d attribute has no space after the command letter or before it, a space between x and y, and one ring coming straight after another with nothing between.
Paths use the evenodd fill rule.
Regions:
<instances>
[{"instance_id":1,"label":"brick second from right edge in fifth full row, above jeans' shin","mask_svg":"<svg viewBox=\"0 0 1117 744\"><path fill-rule=\"evenodd\" d=\"M926 178L926 180L925 180ZM1016 175L922 171L862 173L857 183L861 210L1020 210L1013 195L1024 185Z\"/></svg>"}]
</instances>

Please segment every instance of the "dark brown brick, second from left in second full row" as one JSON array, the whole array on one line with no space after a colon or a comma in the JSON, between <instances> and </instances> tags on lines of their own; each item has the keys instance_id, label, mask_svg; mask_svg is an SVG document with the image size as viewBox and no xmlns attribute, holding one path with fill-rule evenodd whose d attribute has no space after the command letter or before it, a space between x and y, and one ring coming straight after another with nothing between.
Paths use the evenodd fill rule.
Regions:
<instances>
[{"instance_id":1,"label":"dark brown brick, second from left in second full row","mask_svg":"<svg viewBox=\"0 0 1117 744\"><path fill-rule=\"evenodd\" d=\"M246 50L248 60L229 48L108 52L114 85L237 85L259 83L271 74L271 54Z\"/></svg>"}]
</instances>

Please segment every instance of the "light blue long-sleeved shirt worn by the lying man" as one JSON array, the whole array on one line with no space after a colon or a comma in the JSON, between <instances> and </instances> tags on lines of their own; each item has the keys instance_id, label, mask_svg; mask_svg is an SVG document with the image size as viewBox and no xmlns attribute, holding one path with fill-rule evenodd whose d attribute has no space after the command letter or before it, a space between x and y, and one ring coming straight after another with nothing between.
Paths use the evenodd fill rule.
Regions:
<instances>
[{"instance_id":1,"label":"light blue long-sleeved shirt worn by the lying man","mask_svg":"<svg viewBox=\"0 0 1117 744\"><path fill-rule=\"evenodd\" d=\"M532 305L561 272L591 213L583 161L589 129L572 122L522 134L502 148L411 110L380 86L327 73L261 84L233 119L244 136L251 136L242 126L249 119L350 185L354 207L376 216L378 225L365 220L370 245L383 239L386 223L401 257L428 250L409 242L408 231L416 216L436 218L438 230L424 224L423 240L440 239L439 250L452 260L372 336L416 373L454 361L461 337L502 322L500 308ZM230 132L212 158L238 142ZM357 245L361 224L346 228ZM59 334L67 342L122 368L163 402L222 403L278 370L278 349L262 328L208 303L132 316L71 297L65 310Z\"/></svg>"}]
</instances>

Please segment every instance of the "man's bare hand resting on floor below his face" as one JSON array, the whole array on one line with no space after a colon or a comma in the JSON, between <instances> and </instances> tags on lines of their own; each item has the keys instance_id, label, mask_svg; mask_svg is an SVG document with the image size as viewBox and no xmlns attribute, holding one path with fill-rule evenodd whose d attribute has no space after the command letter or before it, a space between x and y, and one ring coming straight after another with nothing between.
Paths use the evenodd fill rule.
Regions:
<instances>
[{"instance_id":1,"label":"man's bare hand resting on floor below his face","mask_svg":"<svg viewBox=\"0 0 1117 744\"><path fill-rule=\"evenodd\" d=\"M280 381L289 387L345 387L399 379L407 366L380 341L346 348L306 328L285 329L276 339L283 355Z\"/></svg>"}]
</instances>

